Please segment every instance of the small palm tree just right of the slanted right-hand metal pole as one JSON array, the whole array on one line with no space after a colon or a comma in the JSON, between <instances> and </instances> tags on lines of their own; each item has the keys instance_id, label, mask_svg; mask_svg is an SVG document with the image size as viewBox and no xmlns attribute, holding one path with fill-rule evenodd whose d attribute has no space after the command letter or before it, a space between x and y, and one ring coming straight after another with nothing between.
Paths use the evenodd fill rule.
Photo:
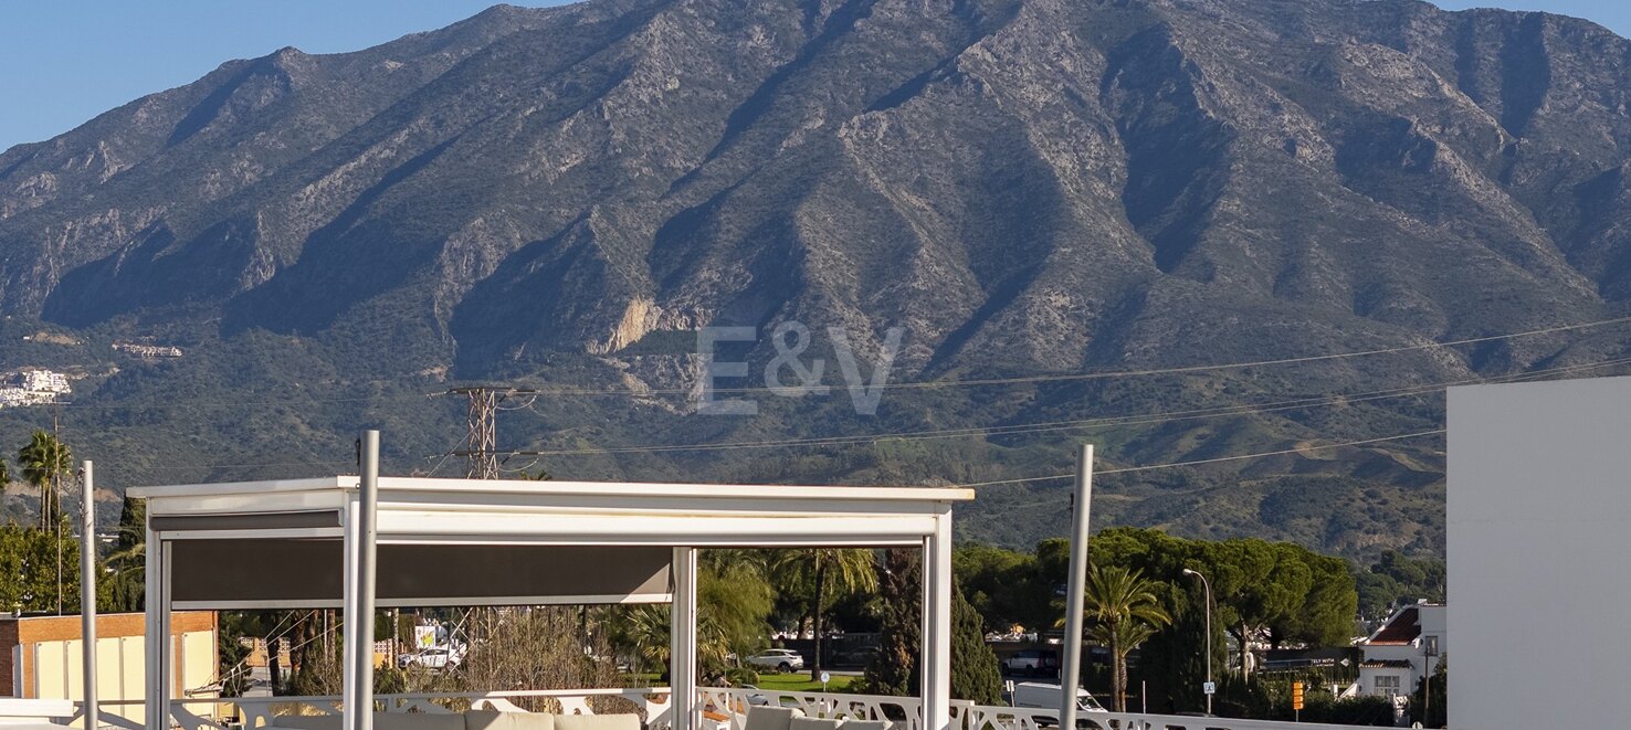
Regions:
<instances>
[{"instance_id":1,"label":"small palm tree just right of the slanted right-hand metal pole","mask_svg":"<svg viewBox=\"0 0 1631 730\"><path fill-rule=\"evenodd\" d=\"M1158 587L1143 572L1120 565L1093 565L1088 574L1085 609L1093 624L1088 634L1111 650L1116 712L1127 712L1127 653L1150 639L1156 627L1173 621L1155 595Z\"/></svg>"}]
</instances>

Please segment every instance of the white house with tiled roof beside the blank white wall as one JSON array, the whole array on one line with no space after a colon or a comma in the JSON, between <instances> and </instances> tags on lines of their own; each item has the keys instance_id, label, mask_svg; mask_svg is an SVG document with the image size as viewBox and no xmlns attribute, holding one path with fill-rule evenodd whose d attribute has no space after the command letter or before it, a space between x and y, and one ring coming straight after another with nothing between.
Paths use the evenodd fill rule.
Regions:
<instances>
[{"instance_id":1,"label":"white house with tiled roof beside the blank white wall","mask_svg":"<svg viewBox=\"0 0 1631 730\"><path fill-rule=\"evenodd\" d=\"M1442 603L1399 608L1359 647L1364 652L1359 662L1360 694L1411 694L1422 676L1439 668L1445 653L1445 608Z\"/></svg>"}]
</instances>

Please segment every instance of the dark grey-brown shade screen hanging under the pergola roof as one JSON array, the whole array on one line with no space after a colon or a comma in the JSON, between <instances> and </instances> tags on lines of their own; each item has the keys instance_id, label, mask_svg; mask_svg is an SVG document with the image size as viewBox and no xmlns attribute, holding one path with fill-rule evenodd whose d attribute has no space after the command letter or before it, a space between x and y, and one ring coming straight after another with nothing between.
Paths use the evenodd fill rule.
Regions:
<instances>
[{"instance_id":1,"label":"dark grey-brown shade screen hanging under the pergola roof","mask_svg":"<svg viewBox=\"0 0 1631 730\"><path fill-rule=\"evenodd\" d=\"M329 608L343 600L339 539L176 539L171 601L186 608ZM380 606L664 603L674 552L659 546L382 544Z\"/></svg>"}]
</instances>

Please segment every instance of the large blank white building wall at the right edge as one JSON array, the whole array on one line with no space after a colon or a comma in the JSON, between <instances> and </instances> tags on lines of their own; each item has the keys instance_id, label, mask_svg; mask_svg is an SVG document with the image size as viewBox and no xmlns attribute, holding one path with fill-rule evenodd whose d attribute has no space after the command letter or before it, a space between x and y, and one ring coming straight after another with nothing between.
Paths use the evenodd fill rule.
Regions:
<instances>
[{"instance_id":1,"label":"large blank white building wall at the right edge","mask_svg":"<svg viewBox=\"0 0 1631 730\"><path fill-rule=\"evenodd\" d=\"M1624 727L1631 378L1452 388L1448 411L1450 727Z\"/></svg>"}]
</instances>

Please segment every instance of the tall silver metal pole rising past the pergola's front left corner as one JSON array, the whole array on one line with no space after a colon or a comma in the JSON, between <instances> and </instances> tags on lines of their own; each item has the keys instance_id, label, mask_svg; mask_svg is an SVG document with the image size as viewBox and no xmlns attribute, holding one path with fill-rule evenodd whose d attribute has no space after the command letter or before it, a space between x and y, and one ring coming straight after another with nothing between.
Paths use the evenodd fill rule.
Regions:
<instances>
[{"instance_id":1,"label":"tall silver metal pole rising past the pergola's front left corner","mask_svg":"<svg viewBox=\"0 0 1631 730\"><path fill-rule=\"evenodd\" d=\"M373 730L373 585L380 432L362 432L362 479L346 526L346 727Z\"/></svg>"}]
</instances>

